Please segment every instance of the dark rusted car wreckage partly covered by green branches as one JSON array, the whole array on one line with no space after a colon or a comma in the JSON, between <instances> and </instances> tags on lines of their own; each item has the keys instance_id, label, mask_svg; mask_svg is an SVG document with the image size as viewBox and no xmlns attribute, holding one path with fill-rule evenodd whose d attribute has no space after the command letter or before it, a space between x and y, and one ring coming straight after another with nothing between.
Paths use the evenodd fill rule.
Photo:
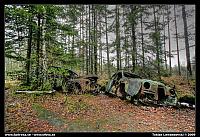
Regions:
<instances>
[{"instance_id":1,"label":"dark rusted car wreckage partly covered by green branches","mask_svg":"<svg viewBox=\"0 0 200 137\"><path fill-rule=\"evenodd\" d=\"M100 85L97 84L98 76L96 75L79 76L70 69L51 66L49 77L52 88L57 91L74 94L99 93Z\"/></svg>"}]
</instances>

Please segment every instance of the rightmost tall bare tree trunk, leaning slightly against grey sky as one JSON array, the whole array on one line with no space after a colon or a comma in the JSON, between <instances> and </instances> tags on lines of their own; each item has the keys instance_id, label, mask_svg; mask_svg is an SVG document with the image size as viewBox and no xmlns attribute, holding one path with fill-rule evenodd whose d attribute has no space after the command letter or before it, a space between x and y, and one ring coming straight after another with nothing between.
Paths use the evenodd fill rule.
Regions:
<instances>
[{"instance_id":1,"label":"rightmost tall bare tree trunk, leaning slightly against grey sky","mask_svg":"<svg viewBox=\"0 0 200 137\"><path fill-rule=\"evenodd\" d=\"M190 62L190 49L189 49L189 40L188 40L188 30L187 30L187 17L186 17L185 5L182 5L182 17L183 17L183 24L184 24L187 71L189 72L189 75L192 76L192 69L191 69L191 62Z\"/></svg>"}]
</instances>

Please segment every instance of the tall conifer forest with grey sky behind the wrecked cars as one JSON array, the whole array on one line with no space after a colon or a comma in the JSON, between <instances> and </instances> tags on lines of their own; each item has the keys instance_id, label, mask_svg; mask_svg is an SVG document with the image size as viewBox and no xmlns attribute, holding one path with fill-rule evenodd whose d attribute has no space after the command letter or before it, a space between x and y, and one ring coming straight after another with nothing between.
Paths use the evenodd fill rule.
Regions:
<instances>
[{"instance_id":1,"label":"tall conifer forest with grey sky behind the wrecked cars","mask_svg":"<svg viewBox=\"0 0 200 137\"><path fill-rule=\"evenodd\" d=\"M51 66L63 68L59 75L70 69L107 78L117 70L155 80L195 77L194 5L4 8L6 79L15 73L33 89L50 87Z\"/></svg>"}]
</instances>

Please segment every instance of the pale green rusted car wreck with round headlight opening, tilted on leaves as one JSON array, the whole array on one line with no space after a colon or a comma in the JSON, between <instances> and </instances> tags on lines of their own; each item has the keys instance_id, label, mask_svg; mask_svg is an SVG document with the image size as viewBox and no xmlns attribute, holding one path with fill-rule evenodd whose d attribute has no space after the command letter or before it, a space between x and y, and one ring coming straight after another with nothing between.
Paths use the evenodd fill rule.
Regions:
<instances>
[{"instance_id":1,"label":"pale green rusted car wreck with round headlight opening, tilted on leaves","mask_svg":"<svg viewBox=\"0 0 200 137\"><path fill-rule=\"evenodd\" d=\"M130 99L134 103L172 105L177 104L174 88L161 82L142 79L130 72L118 71L106 86L106 93L116 95L121 99Z\"/></svg>"}]
</instances>

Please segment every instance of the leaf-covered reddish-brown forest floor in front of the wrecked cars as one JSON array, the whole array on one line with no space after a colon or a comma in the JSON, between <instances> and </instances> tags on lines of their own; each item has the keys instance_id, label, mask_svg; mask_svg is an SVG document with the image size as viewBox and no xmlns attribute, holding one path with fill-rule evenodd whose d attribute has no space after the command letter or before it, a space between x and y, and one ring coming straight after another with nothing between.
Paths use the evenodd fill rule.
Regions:
<instances>
[{"instance_id":1,"label":"leaf-covered reddish-brown forest floor in front of the wrecked cars","mask_svg":"<svg viewBox=\"0 0 200 137\"><path fill-rule=\"evenodd\" d=\"M195 110L136 106L106 95L5 91L5 132L195 132Z\"/></svg>"}]
</instances>

